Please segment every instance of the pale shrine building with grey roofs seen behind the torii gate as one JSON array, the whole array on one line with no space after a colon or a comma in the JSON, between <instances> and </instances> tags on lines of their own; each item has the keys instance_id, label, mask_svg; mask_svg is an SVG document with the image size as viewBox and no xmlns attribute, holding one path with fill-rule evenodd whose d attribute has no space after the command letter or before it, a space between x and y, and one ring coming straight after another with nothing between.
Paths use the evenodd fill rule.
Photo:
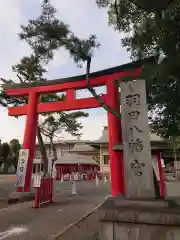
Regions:
<instances>
[{"instance_id":1,"label":"pale shrine building with grey roofs seen behind the torii gate","mask_svg":"<svg viewBox=\"0 0 180 240\"><path fill-rule=\"evenodd\" d=\"M152 162L156 171L156 152L160 151L161 156L164 159L165 164L174 161L174 147L172 143L165 140L156 134L150 133L151 142L151 154ZM81 163L84 166L90 164L99 166L99 169L103 173L110 173L109 164L109 150L108 150L108 127L104 127L101 137L95 141L89 140L64 140L57 141L55 145L55 154L57 164L65 164L68 168L68 164L72 165L73 161L76 162L78 156L81 159ZM46 144L47 154L49 153L49 145ZM122 151L123 146L116 144L114 151ZM180 157L180 153L177 150L176 160ZM39 147L36 147L36 158L40 158Z\"/></svg>"}]
</instances>

